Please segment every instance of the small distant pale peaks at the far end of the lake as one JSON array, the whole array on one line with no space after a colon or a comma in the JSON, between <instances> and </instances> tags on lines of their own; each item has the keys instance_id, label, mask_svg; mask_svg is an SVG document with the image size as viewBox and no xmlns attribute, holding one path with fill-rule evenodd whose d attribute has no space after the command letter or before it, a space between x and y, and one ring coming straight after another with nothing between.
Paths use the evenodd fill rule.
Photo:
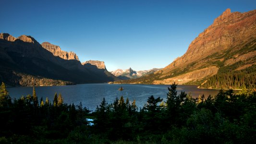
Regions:
<instances>
[{"instance_id":1,"label":"small distant pale peaks at the far end of the lake","mask_svg":"<svg viewBox=\"0 0 256 144\"><path fill-rule=\"evenodd\" d=\"M117 69L115 71L112 71L111 73L122 80L129 80L129 79L135 79L147 74L157 72L158 70L161 70L161 69L154 68L151 70L134 71L132 68L129 68L127 70Z\"/></svg>"}]
</instances>

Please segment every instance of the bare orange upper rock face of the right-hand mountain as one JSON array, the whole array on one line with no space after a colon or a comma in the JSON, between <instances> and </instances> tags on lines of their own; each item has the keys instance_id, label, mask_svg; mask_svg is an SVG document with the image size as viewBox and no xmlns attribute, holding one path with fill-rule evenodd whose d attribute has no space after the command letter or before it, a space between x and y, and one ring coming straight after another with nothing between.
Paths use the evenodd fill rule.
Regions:
<instances>
[{"instance_id":1,"label":"bare orange upper rock face of the right-hand mountain","mask_svg":"<svg viewBox=\"0 0 256 144\"><path fill-rule=\"evenodd\" d=\"M227 9L189 45L186 53L162 70L162 74L183 68L207 56L243 48L256 38L256 10L231 12Z\"/></svg>"}]
</instances>

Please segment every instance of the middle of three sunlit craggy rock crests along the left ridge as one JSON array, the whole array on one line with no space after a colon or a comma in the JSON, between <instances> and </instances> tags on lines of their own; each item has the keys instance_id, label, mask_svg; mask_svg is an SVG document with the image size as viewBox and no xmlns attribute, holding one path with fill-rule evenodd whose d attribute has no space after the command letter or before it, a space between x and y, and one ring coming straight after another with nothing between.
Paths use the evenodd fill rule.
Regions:
<instances>
[{"instance_id":1,"label":"middle of three sunlit craggy rock crests along the left ridge","mask_svg":"<svg viewBox=\"0 0 256 144\"><path fill-rule=\"evenodd\" d=\"M42 45L43 48L50 51L54 56L58 56L61 59L64 59L64 60L79 60L78 56L72 51L70 51L70 52L63 51L63 50L61 50L61 48L59 46L53 45L49 42L43 42L41 45Z\"/></svg>"}]
</instances>

